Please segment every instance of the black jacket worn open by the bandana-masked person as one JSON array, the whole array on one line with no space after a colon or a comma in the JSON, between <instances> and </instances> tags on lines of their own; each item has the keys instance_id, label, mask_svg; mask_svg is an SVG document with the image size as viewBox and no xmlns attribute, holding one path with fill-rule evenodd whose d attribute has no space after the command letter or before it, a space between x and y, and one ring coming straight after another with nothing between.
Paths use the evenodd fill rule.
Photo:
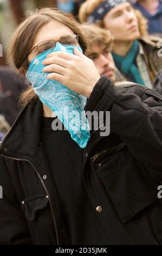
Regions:
<instances>
[{"instance_id":1,"label":"black jacket worn open by the bandana-masked person","mask_svg":"<svg viewBox=\"0 0 162 256\"><path fill-rule=\"evenodd\" d=\"M108 244L161 245L162 96L135 84L115 87L102 76L85 109L111 112L110 135L91 132L82 167ZM43 154L41 118L42 103L32 101L1 143L1 244L69 244Z\"/></svg>"}]
</instances>

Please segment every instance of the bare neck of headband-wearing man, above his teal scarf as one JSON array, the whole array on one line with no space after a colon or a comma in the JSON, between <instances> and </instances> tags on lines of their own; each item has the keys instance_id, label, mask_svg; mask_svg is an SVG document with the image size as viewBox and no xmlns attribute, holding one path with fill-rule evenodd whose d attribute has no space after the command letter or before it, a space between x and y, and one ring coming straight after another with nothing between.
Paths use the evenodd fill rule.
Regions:
<instances>
[{"instance_id":1,"label":"bare neck of headband-wearing man, above his teal scarf","mask_svg":"<svg viewBox=\"0 0 162 256\"><path fill-rule=\"evenodd\" d=\"M131 49L133 42L114 41L113 52L125 57Z\"/></svg>"}]
</instances>

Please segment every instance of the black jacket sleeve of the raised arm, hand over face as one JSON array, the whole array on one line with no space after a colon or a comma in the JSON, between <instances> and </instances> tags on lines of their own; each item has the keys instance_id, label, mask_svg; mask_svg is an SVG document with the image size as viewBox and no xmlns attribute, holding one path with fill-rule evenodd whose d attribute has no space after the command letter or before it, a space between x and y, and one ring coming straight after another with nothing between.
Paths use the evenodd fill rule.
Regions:
<instances>
[{"instance_id":1,"label":"black jacket sleeve of the raised arm, hand over face","mask_svg":"<svg viewBox=\"0 0 162 256\"><path fill-rule=\"evenodd\" d=\"M150 89L142 92L147 93L144 101L102 76L85 110L110 111L110 132L121 137L153 178L162 180L162 96Z\"/></svg>"}]
</instances>

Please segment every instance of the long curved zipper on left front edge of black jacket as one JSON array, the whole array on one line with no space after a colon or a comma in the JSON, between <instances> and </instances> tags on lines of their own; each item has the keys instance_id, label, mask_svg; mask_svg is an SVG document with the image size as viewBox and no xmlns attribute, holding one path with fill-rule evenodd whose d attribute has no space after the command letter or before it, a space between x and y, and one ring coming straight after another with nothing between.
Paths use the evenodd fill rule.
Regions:
<instances>
[{"instance_id":1,"label":"long curved zipper on left front edge of black jacket","mask_svg":"<svg viewBox=\"0 0 162 256\"><path fill-rule=\"evenodd\" d=\"M41 183L44 187L44 190L46 191L47 193L47 196L48 196L48 199L49 199L49 204L50 204L50 209L51 209L51 213L52 213L52 216L53 216L53 221L54 221L54 225L55 225L55 232L56 232L56 239L57 239L57 245L59 245L59 237L58 237L58 233L57 233L57 228L56 228L56 220L55 220L55 216L54 216L54 212L53 212L53 209L52 209L52 206L51 206L51 200L50 200L50 197L49 197L49 193L48 193L48 190L40 176L40 174L38 173L37 169L35 168L34 164L32 162L30 162L29 160L26 160L26 159L17 159L17 158L14 158L14 157L10 157L10 156L4 156L1 154L1 156L3 156L4 158L7 158L7 159L12 159L12 160L17 160L17 161L27 161L31 164L31 166L33 167L33 169L35 170L38 178L41 180Z\"/></svg>"}]
</instances>

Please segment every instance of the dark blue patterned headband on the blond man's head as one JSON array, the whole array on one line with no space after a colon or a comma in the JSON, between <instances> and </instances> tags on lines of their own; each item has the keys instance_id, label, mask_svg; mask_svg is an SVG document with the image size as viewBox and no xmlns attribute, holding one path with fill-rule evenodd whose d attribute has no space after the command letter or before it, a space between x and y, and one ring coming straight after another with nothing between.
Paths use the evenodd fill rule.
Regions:
<instances>
[{"instance_id":1,"label":"dark blue patterned headband on the blond man's head","mask_svg":"<svg viewBox=\"0 0 162 256\"><path fill-rule=\"evenodd\" d=\"M109 10L116 7L118 4L125 3L127 0L107 0L98 7L96 7L92 14L90 14L87 18L87 22L89 23L96 23L108 13Z\"/></svg>"}]
</instances>

